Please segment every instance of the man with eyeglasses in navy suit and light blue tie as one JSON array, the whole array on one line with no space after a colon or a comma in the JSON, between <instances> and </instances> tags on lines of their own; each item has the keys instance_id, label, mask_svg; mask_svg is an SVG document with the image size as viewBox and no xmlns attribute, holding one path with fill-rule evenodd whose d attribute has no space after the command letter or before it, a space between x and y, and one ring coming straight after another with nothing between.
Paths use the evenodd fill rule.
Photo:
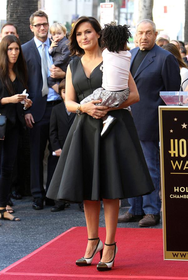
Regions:
<instances>
[{"instance_id":1,"label":"man with eyeglasses in navy suit and light blue tie","mask_svg":"<svg viewBox=\"0 0 188 280\"><path fill-rule=\"evenodd\" d=\"M49 140L50 115L54 105L61 102L59 94L48 87L47 77L55 79L65 77L65 72L59 67L51 69L52 57L48 53L50 39L48 38L48 16L43 11L36 11L30 17L30 28L34 38L22 45L23 54L28 69L29 98L32 107L25 112L26 125L30 128L30 158L31 158L31 193L34 197L33 209L43 209L45 190L43 187L43 159L47 140ZM49 156L47 168L46 191L53 176L56 165L55 156L49 140ZM46 200L46 205L53 201Z\"/></svg>"}]
</instances>

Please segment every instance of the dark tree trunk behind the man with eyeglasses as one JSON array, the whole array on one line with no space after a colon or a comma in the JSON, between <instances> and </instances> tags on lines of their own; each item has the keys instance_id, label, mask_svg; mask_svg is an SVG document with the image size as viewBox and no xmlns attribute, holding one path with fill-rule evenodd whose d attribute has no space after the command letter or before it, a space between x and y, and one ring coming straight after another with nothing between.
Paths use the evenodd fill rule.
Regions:
<instances>
[{"instance_id":1,"label":"dark tree trunk behind the man with eyeglasses","mask_svg":"<svg viewBox=\"0 0 188 280\"><path fill-rule=\"evenodd\" d=\"M21 44L33 38L33 33L29 27L29 18L37 10L38 0L7 0L7 22L18 27Z\"/></svg>"}]
</instances>

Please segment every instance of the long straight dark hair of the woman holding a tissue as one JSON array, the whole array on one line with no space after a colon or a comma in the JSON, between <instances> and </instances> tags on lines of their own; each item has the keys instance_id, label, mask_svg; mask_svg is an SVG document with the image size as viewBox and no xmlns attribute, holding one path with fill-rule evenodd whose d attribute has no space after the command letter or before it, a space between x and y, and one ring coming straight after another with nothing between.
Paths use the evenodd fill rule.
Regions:
<instances>
[{"instance_id":1,"label":"long straight dark hair of the woman holding a tissue","mask_svg":"<svg viewBox=\"0 0 188 280\"><path fill-rule=\"evenodd\" d=\"M17 43L19 46L18 59L13 66L13 71L16 74L17 79L27 88L27 67L25 59L22 53L22 48L20 40L15 35L7 35L3 37L0 43L0 79L3 85L7 88L10 95L15 94L12 83L9 78L9 68L8 68L8 46L11 43Z\"/></svg>"}]
</instances>

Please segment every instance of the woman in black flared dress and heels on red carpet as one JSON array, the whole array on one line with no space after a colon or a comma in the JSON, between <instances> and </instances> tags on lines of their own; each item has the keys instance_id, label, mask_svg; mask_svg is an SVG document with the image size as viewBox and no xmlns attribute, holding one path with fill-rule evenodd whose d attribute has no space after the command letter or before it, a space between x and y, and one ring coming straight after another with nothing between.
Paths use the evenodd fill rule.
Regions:
<instances>
[{"instance_id":1,"label":"woman in black flared dress and heels on red carpet","mask_svg":"<svg viewBox=\"0 0 188 280\"><path fill-rule=\"evenodd\" d=\"M144 159L133 118L123 109L139 101L134 80L129 75L128 100L118 108L96 106L100 100L80 105L79 102L102 85L101 26L95 18L77 19L70 32L73 59L67 69L65 103L77 116L65 141L47 196L70 202L84 201L88 244L76 265L90 265L97 252L101 261L97 270L111 269L117 246L115 233L119 199L148 194L154 190ZM78 99L79 101L78 101ZM117 123L101 138L101 117L110 111ZM106 240L98 237L100 200L103 200Z\"/></svg>"}]
</instances>

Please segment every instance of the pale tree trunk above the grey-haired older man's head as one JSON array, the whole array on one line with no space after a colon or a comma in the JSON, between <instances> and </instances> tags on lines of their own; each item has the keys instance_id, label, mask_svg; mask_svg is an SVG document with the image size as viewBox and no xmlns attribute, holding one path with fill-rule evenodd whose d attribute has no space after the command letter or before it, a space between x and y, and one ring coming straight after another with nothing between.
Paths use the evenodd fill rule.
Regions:
<instances>
[{"instance_id":1,"label":"pale tree trunk above the grey-haired older man's head","mask_svg":"<svg viewBox=\"0 0 188 280\"><path fill-rule=\"evenodd\" d=\"M153 20L153 14L152 14L153 5L154 5L154 0L138 1L138 21L145 18Z\"/></svg>"}]
</instances>

